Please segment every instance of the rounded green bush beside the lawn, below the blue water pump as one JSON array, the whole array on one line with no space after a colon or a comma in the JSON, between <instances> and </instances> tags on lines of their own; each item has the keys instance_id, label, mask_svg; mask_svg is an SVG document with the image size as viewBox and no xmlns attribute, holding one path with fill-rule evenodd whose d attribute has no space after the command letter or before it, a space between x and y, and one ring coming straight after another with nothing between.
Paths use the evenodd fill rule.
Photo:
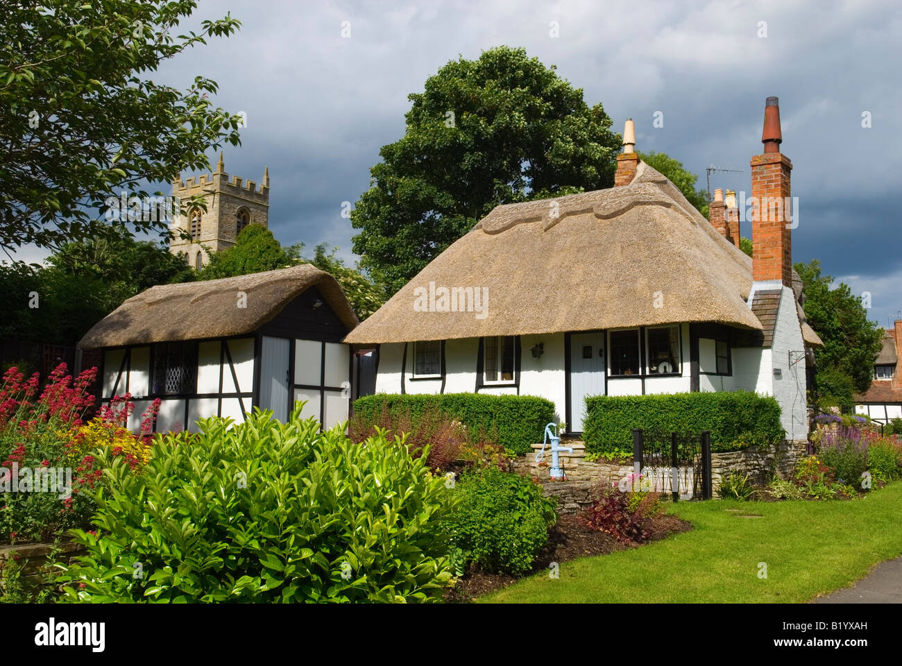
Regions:
<instances>
[{"instance_id":1,"label":"rounded green bush beside the lawn, below the blue water pump","mask_svg":"<svg viewBox=\"0 0 902 666\"><path fill-rule=\"evenodd\" d=\"M542 486L497 467L473 468L457 484L460 504L450 518L460 560L484 571L520 576L529 571L557 521L555 502Z\"/></svg>"}]
</instances>

